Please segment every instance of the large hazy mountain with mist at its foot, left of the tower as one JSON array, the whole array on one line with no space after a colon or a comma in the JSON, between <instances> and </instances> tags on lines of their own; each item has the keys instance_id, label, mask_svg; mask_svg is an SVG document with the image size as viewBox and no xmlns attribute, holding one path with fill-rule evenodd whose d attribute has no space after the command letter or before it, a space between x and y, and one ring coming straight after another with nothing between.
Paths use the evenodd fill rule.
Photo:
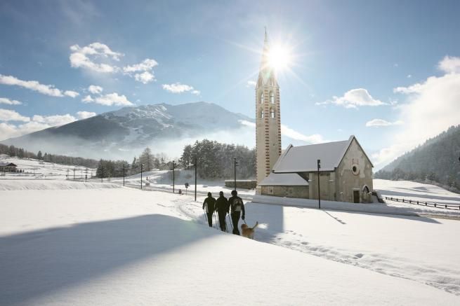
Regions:
<instances>
[{"instance_id":1,"label":"large hazy mountain with mist at its foot, left of the tower","mask_svg":"<svg viewBox=\"0 0 460 306\"><path fill-rule=\"evenodd\" d=\"M244 121L254 119L208 102L150 104L124 107L1 142L32 151L107 158L162 141L235 131L244 127Z\"/></svg>"}]
</instances>

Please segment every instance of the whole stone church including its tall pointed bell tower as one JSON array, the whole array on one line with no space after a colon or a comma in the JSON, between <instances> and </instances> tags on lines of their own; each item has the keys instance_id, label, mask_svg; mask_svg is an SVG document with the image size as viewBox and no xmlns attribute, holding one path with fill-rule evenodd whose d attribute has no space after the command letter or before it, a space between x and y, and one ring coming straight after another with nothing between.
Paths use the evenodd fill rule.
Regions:
<instances>
[{"instance_id":1,"label":"whole stone church including its tall pointed bell tower","mask_svg":"<svg viewBox=\"0 0 460 306\"><path fill-rule=\"evenodd\" d=\"M256 83L257 193L305 199L317 199L320 195L322 200L372 202L374 165L355 136L324 144L289 145L282 152L280 86L275 69L270 67L269 54L265 31Z\"/></svg>"}]
</instances>

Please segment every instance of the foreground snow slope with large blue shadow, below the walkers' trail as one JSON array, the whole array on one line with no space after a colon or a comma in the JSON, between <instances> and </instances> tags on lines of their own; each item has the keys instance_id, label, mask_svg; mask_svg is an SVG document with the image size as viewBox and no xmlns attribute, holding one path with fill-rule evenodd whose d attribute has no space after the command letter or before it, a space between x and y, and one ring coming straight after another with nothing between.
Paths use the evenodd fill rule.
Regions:
<instances>
[{"instance_id":1,"label":"foreground snow slope with large blue shadow, below the walkers' trail","mask_svg":"<svg viewBox=\"0 0 460 306\"><path fill-rule=\"evenodd\" d=\"M460 302L426 284L188 221L178 209L192 204L184 196L129 188L0 196L0 300L8 305Z\"/></svg>"}]
</instances>

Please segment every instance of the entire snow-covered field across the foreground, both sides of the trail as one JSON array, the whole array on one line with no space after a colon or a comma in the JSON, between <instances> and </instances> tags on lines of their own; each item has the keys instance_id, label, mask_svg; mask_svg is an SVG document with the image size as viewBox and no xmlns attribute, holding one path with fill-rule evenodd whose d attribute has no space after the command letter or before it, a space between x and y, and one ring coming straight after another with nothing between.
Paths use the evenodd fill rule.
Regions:
<instances>
[{"instance_id":1,"label":"entire snow-covered field across the foreground, both sides of the trail","mask_svg":"<svg viewBox=\"0 0 460 306\"><path fill-rule=\"evenodd\" d=\"M205 225L202 195L116 179L0 199L0 305L460 305L456 220L247 202L252 241Z\"/></svg>"}]
</instances>

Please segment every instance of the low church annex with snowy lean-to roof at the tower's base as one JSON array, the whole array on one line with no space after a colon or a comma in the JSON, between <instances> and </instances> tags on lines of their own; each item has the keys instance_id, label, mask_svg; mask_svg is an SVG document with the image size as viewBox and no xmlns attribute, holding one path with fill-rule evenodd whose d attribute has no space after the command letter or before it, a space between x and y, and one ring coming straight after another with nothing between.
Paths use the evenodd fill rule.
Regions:
<instances>
[{"instance_id":1,"label":"low church annex with snowy lean-to roof at the tower's base","mask_svg":"<svg viewBox=\"0 0 460 306\"><path fill-rule=\"evenodd\" d=\"M262 195L278 197L301 197L308 199L308 181L296 173L270 173L259 184Z\"/></svg>"}]
</instances>

